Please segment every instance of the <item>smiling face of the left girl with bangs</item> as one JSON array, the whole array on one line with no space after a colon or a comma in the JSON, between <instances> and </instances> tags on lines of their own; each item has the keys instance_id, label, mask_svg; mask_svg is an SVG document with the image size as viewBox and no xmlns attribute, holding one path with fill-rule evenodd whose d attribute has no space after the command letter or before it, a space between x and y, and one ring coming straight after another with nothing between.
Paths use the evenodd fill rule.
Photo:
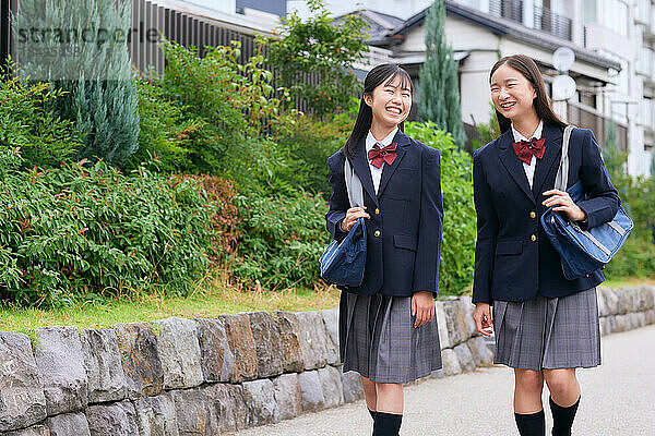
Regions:
<instances>
[{"instance_id":1,"label":"smiling face of the left girl with bangs","mask_svg":"<svg viewBox=\"0 0 655 436\"><path fill-rule=\"evenodd\" d=\"M371 94L364 95L364 101L371 107L373 123L392 130L409 116L412 89L407 81L397 74L378 85Z\"/></svg>"}]
</instances>

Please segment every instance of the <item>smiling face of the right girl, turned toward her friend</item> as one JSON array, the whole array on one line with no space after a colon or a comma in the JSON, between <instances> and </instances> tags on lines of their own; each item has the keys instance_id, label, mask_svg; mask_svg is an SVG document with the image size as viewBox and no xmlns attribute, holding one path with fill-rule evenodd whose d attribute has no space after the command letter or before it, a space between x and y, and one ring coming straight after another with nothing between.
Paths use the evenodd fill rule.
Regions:
<instances>
[{"instance_id":1,"label":"smiling face of the right girl, turned toward her friend","mask_svg":"<svg viewBox=\"0 0 655 436\"><path fill-rule=\"evenodd\" d=\"M491 75L491 101L505 118L514 121L536 116L533 104L537 92L529 81L508 64L500 65Z\"/></svg>"}]
</instances>

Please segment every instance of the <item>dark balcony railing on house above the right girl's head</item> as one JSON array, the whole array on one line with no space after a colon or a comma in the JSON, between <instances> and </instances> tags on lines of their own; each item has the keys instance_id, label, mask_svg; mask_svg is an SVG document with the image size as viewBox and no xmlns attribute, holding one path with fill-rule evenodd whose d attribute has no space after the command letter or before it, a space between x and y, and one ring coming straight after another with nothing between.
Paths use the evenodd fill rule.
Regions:
<instances>
[{"instance_id":1,"label":"dark balcony railing on house above the right girl's head","mask_svg":"<svg viewBox=\"0 0 655 436\"><path fill-rule=\"evenodd\" d=\"M521 24L525 24L523 20L524 9L525 4L522 0L489 0L489 13L491 15ZM572 40L573 37L573 21L547 8L533 7L532 26L562 39Z\"/></svg>"}]
</instances>

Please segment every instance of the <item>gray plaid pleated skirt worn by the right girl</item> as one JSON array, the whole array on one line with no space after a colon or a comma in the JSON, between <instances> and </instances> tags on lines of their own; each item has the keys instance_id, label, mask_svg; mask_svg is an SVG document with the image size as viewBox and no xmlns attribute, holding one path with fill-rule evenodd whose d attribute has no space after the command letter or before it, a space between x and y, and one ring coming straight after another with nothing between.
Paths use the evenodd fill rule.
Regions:
<instances>
[{"instance_id":1,"label":"gray plaid pleated skirt worn by the right girl","mask_svg":"<svg viewBox=\"0 0 655 436\"><path fill-rule=\"evenodd\" d=\"M572 368L600 364L596 288L559 299L493 302L495 363L513 368Z\"/></svg>"}]
</instances>

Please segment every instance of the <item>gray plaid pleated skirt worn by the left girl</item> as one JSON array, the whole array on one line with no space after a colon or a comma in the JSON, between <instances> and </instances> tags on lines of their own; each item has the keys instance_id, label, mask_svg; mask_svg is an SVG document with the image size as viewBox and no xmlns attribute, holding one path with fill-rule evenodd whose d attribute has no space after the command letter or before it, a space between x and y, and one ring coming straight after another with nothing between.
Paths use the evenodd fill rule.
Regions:
<instances>
[{"instance_id":1,"label":"gray plaid pleated skirt worn by the left girl","mask_svg":"<svg viewBox=\"0 0 655 436\"><path fill-rule=\"evenodd\" d=\"M344 373L408 383L441 368L437 317L414 328L410 296L342 292L338 326Z\"/></svg>"}]
</instances>

